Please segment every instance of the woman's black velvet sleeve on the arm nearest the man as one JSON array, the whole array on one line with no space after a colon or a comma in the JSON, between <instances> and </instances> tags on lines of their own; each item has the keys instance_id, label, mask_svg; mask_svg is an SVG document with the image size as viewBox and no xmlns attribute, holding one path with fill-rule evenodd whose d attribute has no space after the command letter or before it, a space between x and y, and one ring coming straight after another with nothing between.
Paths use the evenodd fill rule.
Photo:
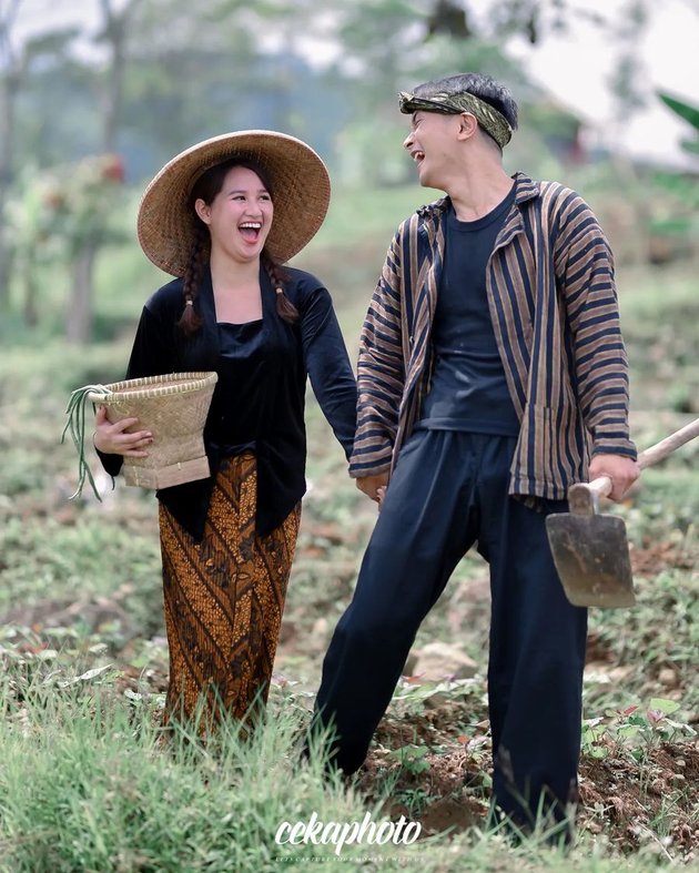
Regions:
<instances>
[{"instance_id":1,"label":"woman's black velvet sleeve on the arm nearest the man","mask_svg":"<svg viewBox=\"0 0 699 873\"><path fill-rule=\"evenodd\" d=\"M357 386L331 295L324 287L303 298L301 338L313 393L350 459L356 428Z\"/></svg>"}]
</instances>

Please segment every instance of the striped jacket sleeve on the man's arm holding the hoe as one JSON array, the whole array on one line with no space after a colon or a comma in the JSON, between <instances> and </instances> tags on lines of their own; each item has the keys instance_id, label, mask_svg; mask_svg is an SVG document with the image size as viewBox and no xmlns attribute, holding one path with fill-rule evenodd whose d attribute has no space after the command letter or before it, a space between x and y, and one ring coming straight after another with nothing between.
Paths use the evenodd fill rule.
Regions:
<instances>
[{"instance_id":1,"label":"striped jacket sleeve on the man's arm holding the hoe","mask_svg":"<svg viewBox=\"0 0 699 873\"><path fill-rule=\"evenodd\" d=\"M629 368L611 250L579 195L566 190L561 201L556 278L571 331L578 403L592 436L592 455L636 458L629 438Z\"/></svg>"}]
</instances>

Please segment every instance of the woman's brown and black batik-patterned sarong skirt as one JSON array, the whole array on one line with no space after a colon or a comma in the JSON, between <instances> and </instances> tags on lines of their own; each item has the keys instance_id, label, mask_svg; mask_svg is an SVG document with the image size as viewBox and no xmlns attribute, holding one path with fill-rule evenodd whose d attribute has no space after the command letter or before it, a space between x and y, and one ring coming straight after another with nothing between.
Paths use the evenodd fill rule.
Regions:
<instances>
[{"instance_id":1,"label":"woman's brown and black batik-patterned sarong skirt","mask_svg":"<svg viewBox=\"0 0 699 873\"><path fill-rule=\"evenodd\" d=\"M226 460L196 542L160 504L170 686L164 723L222 712L243 719L267 700L301 504L270 535L255 531L256 466Z\"/></svg>"}]
</instances>

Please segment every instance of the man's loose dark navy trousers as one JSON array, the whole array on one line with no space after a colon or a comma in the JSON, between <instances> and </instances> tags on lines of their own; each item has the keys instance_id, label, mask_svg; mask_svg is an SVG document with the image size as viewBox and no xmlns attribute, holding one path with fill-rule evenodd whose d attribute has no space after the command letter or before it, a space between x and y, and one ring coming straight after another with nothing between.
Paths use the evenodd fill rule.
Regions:
<instances>
[{"instance_id":1,"label":"man's loose dark navy trousers","mask_svg":"<svg viewBox=\"0 0 699 873\"><path fill-rule=\"evenodd\" d=\"M507 495L515 441L450 430L408 439L323 663L315 723L334 724L342 770L361 767L422 620L477 542L490 567L494 800L527 823L539 802L561 818L577 796L587 610L565 597L546 512Z\"/></svg>"}]
</instances>

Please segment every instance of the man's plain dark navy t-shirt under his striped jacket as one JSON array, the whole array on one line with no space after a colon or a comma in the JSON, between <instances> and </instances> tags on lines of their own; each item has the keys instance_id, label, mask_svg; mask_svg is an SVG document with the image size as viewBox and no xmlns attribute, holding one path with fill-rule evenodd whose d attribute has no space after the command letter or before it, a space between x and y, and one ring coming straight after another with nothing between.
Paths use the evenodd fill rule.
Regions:
<instances>
[{"instance_id":1,"label":"man's plain dark navy t-shirt under his striped jacket","mask_svg":"<svg viewBox=\"0 0 699 873\"><path fill-rule=\"evenodd\" d=\"M419 427L517 436L519 419L507 389L486 286L486 266L515 186L487 215L446 216L446 247L432 329L435 366Z\"/></svg>"}]
</instances>

